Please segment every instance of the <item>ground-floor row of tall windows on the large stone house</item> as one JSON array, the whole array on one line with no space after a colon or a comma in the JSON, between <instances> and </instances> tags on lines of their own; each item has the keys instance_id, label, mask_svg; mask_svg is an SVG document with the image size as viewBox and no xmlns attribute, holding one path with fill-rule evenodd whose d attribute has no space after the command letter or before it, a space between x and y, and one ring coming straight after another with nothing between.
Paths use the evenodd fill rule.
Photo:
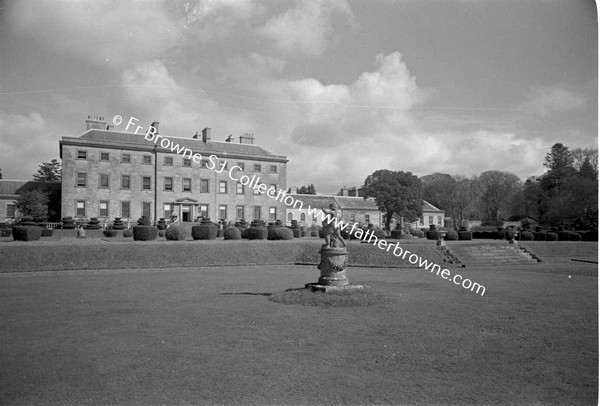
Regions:
<instances>
[{"instance_id":1,"label":"ground-floor row of tall windows on the large stone house","mask_svg":"<svg viewBox=\"0 0 600 406\"><path fill-rule=\"evenodd\" d=\"M13 205L14 206L14 205ZM98 202L98 217L122 217L128 219L131 217L131 202L121 202L120 204L121 212L119 215L113 215L113 213L109 212L109 202L107 200L100 200ZM175 205L171 203L165 203L163 205L163 217L170 218L173 214L173 210ZM189 207L189 206L188 206ZM77 200L75 202L75 215L77 217L87 217L87 211L89 207L85 200ZM198 206L199 212L197 216L201 217L210 217L209 215L209 204L200 204ZM253 219L261 220L262 206L254 206L252 209ZM151 218L152 215L152 202L142 202L142 216L146 216ZM243 220L246 218L246 206L236 206L235 207L235 215L236 220ZM14 213L13 213L14 216ZM8 217L8 216L7 216ZM227 219L228 218L228 207L226 204L219 205L219 219ZM191 219L190 219L191 220ZM277 220L277 207L269 207L269 221Z\"/></svg>"}]
</instances>

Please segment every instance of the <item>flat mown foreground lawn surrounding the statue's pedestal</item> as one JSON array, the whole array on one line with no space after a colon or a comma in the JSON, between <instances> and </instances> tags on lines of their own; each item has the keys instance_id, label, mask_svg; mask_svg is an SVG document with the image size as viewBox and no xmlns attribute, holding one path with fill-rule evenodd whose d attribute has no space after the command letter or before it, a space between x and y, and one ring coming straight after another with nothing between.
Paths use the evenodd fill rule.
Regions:
<instances>
[{"instance_id":1,"label":"flat mown foreground lawn surrounding the statue's pedestal","mask_svg":"<svg viewBox=\"0 0 600 406\"><path fill-rule=\"evenodd\" d=\"M485 296L398 268L348 270L388 298L360 307L269 300L310 266L2 274L0 404L597 404L597 265L455 271Z\"/></svg>"}]
</instances>

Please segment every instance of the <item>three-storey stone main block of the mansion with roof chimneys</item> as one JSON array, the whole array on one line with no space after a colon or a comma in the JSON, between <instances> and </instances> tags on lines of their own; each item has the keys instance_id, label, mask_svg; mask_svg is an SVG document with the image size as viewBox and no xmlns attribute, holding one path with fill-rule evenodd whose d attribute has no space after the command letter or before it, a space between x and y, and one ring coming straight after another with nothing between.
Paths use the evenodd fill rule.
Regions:
<instances>
[{"instance_id":1,"label":"three-storey stone main block of the mansion with roof chimneys","mask_svg":"<svg viewBox=\"0 0 600 406\"><path fill-rule=\"evenodd\" d=\"M157 122L152 127L160 134ZM102 117L88 117L83 134L60 141L61 215L104 221L146 216L152 222L172 215L182 222L285 219L283 203L231 176L235 169L235 179L248 175L285 190L285 156L255 145L251 134L239 142L232 136L214 141L210 128L189 138L162 137L180 149L164 148L144 133L113 131Z\"/></svg>"}]
</instances>

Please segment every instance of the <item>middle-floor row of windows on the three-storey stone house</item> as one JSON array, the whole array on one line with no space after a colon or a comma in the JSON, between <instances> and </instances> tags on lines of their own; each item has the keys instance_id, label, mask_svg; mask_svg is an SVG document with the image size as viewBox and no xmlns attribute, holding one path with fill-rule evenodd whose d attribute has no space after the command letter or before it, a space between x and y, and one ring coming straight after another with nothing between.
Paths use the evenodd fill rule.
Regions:
<instances>
[{"instance_id":1,"label":"middle-floor row of windows on the three-storey stone house","mask_svg":"<svg viewBox=\"0 0 600 406\"><path fill-rule=\"evenodd\" d=\"M75 185L77 187L87 187L88 178L87 172L77 172L77 180ZM181 184L182 192L193 192L192 190L192 178L183 178ZM210 180L209 179L200 179L199 185L199 193L210 193ZM218 184L219 193L228 193L229 189L229 181L221 180ZM106 173L101 173L98 175L98 189L109 189L110 188L110 175ZM245 192L245 187L239 182L236 182L236 194L243 195ZM121 175L121 189L131 189L131 175ZM275 189L277 191L277 184L270 184L269 189ZM152 177L151 176L142 176L142 190L152 190ZM173 192L174 189L174 181L172 177L164 177L163 178L163 190ZM253 189L255 195L260 195L261 193Z\"/></svg>"}]
</instances>

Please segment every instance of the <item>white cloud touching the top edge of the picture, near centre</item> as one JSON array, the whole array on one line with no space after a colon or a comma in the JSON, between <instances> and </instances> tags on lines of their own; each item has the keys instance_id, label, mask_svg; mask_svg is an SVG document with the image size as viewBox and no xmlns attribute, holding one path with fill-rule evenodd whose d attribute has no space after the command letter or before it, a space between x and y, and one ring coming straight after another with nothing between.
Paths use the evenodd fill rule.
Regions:
<instances>
[{"instance_id":1,"label":"white cloud touching the top edge of the picture, near centre","mask_svg":"<svg viewBox=\"0 0 600 406\"><path fill-rule=\"evenodd\" d=\"M333 31L331 19L335 15L353 21L346 0L300 1L296 7L272 17L260 33L284 53L321 55Z\"/></svg>"}]
</instances>

